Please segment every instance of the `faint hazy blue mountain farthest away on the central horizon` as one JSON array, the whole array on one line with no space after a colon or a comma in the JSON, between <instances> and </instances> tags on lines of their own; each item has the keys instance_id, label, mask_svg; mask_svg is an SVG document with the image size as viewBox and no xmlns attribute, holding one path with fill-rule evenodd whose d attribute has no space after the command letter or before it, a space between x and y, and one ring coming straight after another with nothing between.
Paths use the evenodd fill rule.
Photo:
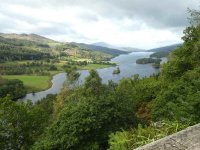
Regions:
<instances>
[{"instance_id":1,"label":"faint hazy blue mountain farthest away on the central horizon","mask_svg":"<svg viewBox=\"0 0 200 150\"><path fill-rule=\"evenodd\" d=\"M118 49L118 50L126 51L126 52L144 51L142 49L138 49L138 48L134 48L134 47L118 47L118 46L113 46L113 45L110 45L110 44L105 43L105 42L97 42L97 43L93 43L92 45L107 47L107 48L111 48L111 49Z\"/></svg>"}]
</instances>

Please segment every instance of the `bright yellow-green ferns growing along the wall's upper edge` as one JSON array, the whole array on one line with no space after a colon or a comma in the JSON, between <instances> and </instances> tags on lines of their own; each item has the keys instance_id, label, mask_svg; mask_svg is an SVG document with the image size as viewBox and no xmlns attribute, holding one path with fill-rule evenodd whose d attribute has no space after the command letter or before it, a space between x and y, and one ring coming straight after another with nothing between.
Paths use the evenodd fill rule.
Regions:
<instances>
[{"instance_id":1,"label":"bright yellow-green ferns growing along the wall's upper edge","mask_svg":"<svg viewBox=\"0 0 200 150\"><path fill-rule=\"evenodd\" d=\"M176 133L188 124L179 122L157 122L150 126L138 125L129 131L112 133L109 139L109 150L130 150Z\"/></svg>"}]
</instances>

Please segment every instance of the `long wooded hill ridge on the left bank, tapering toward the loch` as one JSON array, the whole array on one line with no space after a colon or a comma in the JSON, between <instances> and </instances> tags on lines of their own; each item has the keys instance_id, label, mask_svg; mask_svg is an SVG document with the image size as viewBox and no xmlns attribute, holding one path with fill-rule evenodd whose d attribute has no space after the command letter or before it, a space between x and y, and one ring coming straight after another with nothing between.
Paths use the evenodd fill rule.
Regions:
<instances>
[{"instance_id":1,"label":"long wooded hill ridge on the left bank, tapering toward the loch","mask_svg":"<svg viewBox=\"0 0 200 150\"><path fill-rule=\"evenodd\" d=\"M117 49L84 43L57 42L37 34L0 33L0 45L1 44L7 45L9 49L12 49L11 47L14 46L16 47L16 51L19 50L19 47L22 47L24 49L27 48L27 50L31 52L43 51L52 55L58 55L60 52L72 55L72 53L74 54L76 52L77 56L80 58L92 57L95 59L98 58L98 60L107 60L111 57L128 53ZM5 50L5 52L6 51L7 50ZM84 56L81 56L83 54Z\"/></svg>"}]
</instances>

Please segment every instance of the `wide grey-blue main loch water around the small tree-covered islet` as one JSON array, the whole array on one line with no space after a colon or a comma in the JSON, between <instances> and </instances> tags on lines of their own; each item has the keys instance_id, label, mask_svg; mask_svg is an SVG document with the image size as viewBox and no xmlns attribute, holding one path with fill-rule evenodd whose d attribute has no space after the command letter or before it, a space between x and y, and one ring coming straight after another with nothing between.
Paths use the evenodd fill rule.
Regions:
<instances>
[{"instance_id":1,"label":"wide grey-blue main loch water around the small tree-covered islet","mask_svg":"<svg viewBox=\"0 0 200 150\"><path fill-rule=\"evenodd\" d=\"M152 67L152 64L136 64L136 60L139 58L148 58L151 54L152 52L133 52L113 58L111 62L118 64L121 71L120 74L112 74L116 67L97 69L97 71L104 83L107 83L108 80L118 82L120 79L131 77L134 74L139 74L140 77L150 76L154 73L158 73L159 69ZM89 73L87 70L79 72L81 73L79 81L83 83L85 77L87 77Z\"/></svg>"}]
</instances>

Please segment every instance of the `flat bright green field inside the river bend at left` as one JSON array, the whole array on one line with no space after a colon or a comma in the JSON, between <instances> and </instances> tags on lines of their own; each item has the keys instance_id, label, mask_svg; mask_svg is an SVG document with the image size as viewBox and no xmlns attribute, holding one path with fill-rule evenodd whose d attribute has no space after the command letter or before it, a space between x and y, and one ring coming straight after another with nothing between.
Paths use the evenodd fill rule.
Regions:
<instances>
[{"instance_id":1,"label":"flat bright green field inside the river bend at left","mask_svg":"<svg viewBox=\"0 0 200 150\"><path fill-rule=\"evenodd\" d=\"M34 75L5 75L5 79L19 79L24 83L27 92L42 91L51 86L51 76L34 76Z\"/></svg>"}]
</instances>

